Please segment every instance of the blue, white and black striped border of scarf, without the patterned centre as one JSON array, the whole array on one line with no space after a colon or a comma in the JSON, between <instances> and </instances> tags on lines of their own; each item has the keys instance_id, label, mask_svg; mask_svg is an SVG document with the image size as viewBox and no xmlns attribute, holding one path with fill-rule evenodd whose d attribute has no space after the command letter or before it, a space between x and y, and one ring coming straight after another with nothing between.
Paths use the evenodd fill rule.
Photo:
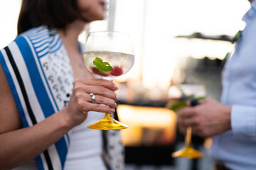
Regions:
<instances>
[{"instance_id":1,"label":"blue, white and black striped border of scarf, without the patterned centre","mask_svg":"<svg viewBox=\"0 0 256 170\"><path fill-rule=\"evenodd\" d=\"M24 127L41 122L61 108L40 61L61 46L58 35L50 36L46 27L40 27L18 36L0 52L0 62ZM38 169L63 169L67 152L68 134L36 158Z\"/></svg>"}]
</instances>

